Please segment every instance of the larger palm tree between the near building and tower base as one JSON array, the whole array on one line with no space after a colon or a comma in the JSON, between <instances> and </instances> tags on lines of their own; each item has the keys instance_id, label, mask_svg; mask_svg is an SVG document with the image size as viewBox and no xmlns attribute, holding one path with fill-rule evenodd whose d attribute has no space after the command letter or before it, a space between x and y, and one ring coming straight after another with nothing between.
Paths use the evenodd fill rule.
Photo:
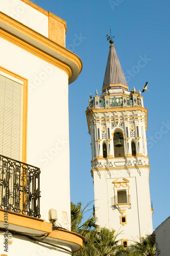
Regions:
<instances>
[{"instance_id":1,"label":"larger palm tree between the near building and tower base","mask_svg":"<svg viewBox=\"0 0 170 256\"><path fill-rule=\"evenodd\" d=\"M112 256L119 249L116 241L115 230L99 228L93 214L82 223L84 214L88 211L87 207L91 202L82 208L81 202L71 203L71 231L84 236L83 249L75 252L77 256ZM118 255L118 254L117 254Z\"/></svg>"}]
</instances>

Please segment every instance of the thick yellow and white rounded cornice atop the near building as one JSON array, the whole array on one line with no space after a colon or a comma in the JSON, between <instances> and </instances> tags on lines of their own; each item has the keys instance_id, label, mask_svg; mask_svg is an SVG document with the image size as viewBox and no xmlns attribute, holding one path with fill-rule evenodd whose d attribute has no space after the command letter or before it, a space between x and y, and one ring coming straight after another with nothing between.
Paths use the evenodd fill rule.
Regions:
<instances>
[{"instance_id":1,"label":"thick yellow and white rounded cornice atop the near building","mask_svg":"<svg viewBox=\"0 0 170 256\"><path fill-rule=\"evenodd\" d=\"M4 13L0 13L0 22L4 28L8 28L8 32L3 28L0 30L2 38L62 69L68 74L70 82L76 80L82 70L82 61L75 53L70 52ZM75 73L76 77L74 77L72 74L74 72L79 74Z\"/></svg>"}]
</instances>

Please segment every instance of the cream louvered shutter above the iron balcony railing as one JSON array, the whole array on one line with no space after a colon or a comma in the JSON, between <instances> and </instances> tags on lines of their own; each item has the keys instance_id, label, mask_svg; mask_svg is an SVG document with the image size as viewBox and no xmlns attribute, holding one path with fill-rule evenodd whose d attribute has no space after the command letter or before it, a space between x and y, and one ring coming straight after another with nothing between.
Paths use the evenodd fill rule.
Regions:
<instances>
[{"instance_id":1,"label":"cream louvered shutter above the iron balcony railing","mask_svg":"<svg viewBox=\"0 0 170 256\"><path fill-rule=\"evenodd\" d=\"M0 74L0 154L19 161L22 161L22 116L23 82Z\"/></svg>"}]
</instances>

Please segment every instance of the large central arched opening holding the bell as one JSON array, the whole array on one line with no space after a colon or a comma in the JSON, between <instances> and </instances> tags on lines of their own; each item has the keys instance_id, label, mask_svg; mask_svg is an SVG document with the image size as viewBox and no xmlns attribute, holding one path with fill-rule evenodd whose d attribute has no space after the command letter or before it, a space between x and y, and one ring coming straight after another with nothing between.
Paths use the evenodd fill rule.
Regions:
<instances>
[{"instance_id":1,"label":"large central arched opening holding the bell","mask_svg":"<svg viewBox=\"0 0 170 256\"><path fill-rule=\"evenodd\" d=\"M124 135L122 132L115 131L113 143L114 157L125 157Z\"/></svg>"}]
</instances>

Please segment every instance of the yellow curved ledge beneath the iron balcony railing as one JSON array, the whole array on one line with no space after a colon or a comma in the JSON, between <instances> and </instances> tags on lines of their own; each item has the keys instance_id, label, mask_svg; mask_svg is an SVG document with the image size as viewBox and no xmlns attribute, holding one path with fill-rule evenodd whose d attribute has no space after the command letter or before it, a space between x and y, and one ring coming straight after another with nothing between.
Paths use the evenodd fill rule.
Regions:
<instances>
[{"instance_id":1,"label":"yellow curved ledge beneath the iron balcony railing","mask_svg":"<svg viewBox=\"0 0 170 256\"><path fill-rule=\"evenodd\" d=\"M78 233L71 232L66 229L58 228L53 230L52 224L42 219L30 217L27 215L17 214L13 211L8 211L4 222L4 209L0 209L0 228L5 230L5 226L9 231L27 234L29 236L42 236L47 234L47 238L43 241L51 244L62 243L64 246L71 248L72 252L81 250L83 247L84 237Z\"/></svg>"}]
</instances>

